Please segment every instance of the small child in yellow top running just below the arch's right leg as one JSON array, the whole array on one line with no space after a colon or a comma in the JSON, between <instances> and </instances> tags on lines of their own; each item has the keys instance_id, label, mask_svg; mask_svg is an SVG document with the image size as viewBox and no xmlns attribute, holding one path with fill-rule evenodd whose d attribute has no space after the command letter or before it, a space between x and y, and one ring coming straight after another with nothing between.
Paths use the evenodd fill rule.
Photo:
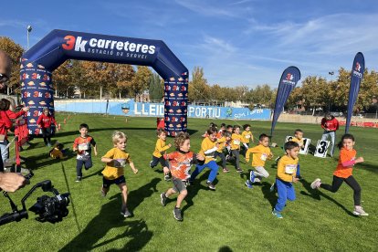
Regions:
<instances>
[{"instance_id":1,"label":"small child in yellow top running just below the arch's right leg","mask_svg":"<svg viewBox=\"0 0 378 252\"><path fill-rule=\"evenodd\" d=\"M153 168L158 163L160 163L163 167L164 180L170 181L171 178L169 176L169 169L165 165L165 159L163 157L163 154L165 153L166 150L171 148L172 144L171 143L166 144L165 139L167 138L167 133L164 131L163 128L159 128L156 131L156 135L158 137L158 140L156 141L156 144L155 144L155 151L152 153L152 161L150 162L150 167Z\"/></svg>"}]
</instances>

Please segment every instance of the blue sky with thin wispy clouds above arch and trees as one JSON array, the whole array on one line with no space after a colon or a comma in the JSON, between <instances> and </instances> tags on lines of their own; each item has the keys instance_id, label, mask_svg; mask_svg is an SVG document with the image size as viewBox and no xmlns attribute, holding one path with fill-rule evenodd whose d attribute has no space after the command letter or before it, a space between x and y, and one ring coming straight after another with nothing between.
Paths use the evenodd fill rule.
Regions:
<instances>
[{"instance_id":1,"label":"blue sky with thin wispy clouds above arch and trees","mask_svg":"<svg viewBox=\"0 0 378 252\"><path fill-rule=\"evenodd\" d=\"M278 86L297 66L330 79L361 51L378 68L376 1L93 0L2 1L0 36L30 47L53 29L162 39L184 65L204 68L209 84ZM335 77L333 77L335 78Z\"/></svg>"}]
</instances>

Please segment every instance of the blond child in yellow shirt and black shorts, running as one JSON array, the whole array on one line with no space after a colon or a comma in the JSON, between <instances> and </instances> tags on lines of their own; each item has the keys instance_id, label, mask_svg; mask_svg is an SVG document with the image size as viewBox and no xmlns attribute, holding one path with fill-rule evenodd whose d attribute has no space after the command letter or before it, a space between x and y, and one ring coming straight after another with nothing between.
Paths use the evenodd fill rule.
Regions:
<instances>
[{"instance_id":1,"label":"blond child in yellow shirt and black shorts, running","mask_svg":"<svg viewBox=\"0 0 378 252\"><path fill-rule=\"evenodd\" d=\"M126 166L126 163L129 163L133 173L138 173L138 170L135 168L134 163L132 163L130 154L125 152L127 136L121 131L114 131L111 139L114 148L101 157L101 162L106 163L106 166L102 171L103 178L100 192L105 197L109 192L110 185L117 184L121 190L121 215L129 217L132 214L126 205L128 189L125 176L123 175L123 168Z\"/></svg>"}]
</instances>

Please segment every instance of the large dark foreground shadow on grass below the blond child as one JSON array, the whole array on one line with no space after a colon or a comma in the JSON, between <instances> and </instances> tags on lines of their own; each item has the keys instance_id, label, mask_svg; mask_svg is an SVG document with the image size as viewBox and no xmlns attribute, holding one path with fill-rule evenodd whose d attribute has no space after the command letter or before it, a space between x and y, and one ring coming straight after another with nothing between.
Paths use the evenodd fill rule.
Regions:
<instances>
[{"instance_id":1,"label":"large dark foreground shadow on grass below the blond child","mask_svg":"<svg viewBox=\"0 0 378 252\"><path fill-rule=\"evenodd\" d=\"M120 250L140 251L151 240L153 233L148 230L144 220L124 221L125 218L118 213L120 203L121 194L110 197L110 202L102 205L99 215L95 216L78 236L59 251L89 251L126 237L129 241ZM96 244L112 228L121 228L124 232ZM117 251L117 249L109 251Z\"/></svg>"}]
</instances>

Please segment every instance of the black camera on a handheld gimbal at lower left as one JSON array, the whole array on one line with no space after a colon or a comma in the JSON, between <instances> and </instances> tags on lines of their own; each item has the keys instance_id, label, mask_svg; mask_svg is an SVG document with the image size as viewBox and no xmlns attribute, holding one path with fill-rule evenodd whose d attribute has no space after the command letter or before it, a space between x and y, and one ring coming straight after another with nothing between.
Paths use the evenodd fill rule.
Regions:
<instances>
[{"instance_id":1,"label":"black camera on a handheld gimbal at lower left","mask_svg":"<svg viewBox=\"0 0 378 252\"><path fill-rule=\"evenodd\" d=\"M27 192L27 194L22 198L21 204L23 208L21 210L18 210L17 206L9 197L9 195L6 192L3 192L5 197L9 199L12 208L12 213L8 213L0 217L0 226L13 221L18 222L23 218L28 218L25 202L26 199L31 194L33 194L33 192L38 187L41 187L44 192L53 193L54 196L42 195L37 198L37 203L28 209L36 215L38 215L36 218L37 221L57 223L62 221L62 219L68 215L67 206L69 205L69 194L59 194L58 190L55 189L54 186L51 184L51 181L45 180L34 185L30 189L30 191Z\"/></svg>"}]
</instances>

